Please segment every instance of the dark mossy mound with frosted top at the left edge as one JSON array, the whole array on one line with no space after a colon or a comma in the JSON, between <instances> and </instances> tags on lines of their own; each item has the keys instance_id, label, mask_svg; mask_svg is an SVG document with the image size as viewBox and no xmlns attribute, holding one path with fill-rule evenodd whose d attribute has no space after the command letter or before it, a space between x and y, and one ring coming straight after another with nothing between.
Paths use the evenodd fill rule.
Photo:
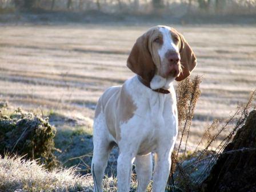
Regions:
<instances>
[{"instance_id":1,"label":"dark mossy mound with frosted top at the left edge","mask_svg":"<svg viewBox=\"0 0 256 192\"><path fill-rule=\"evenodd\" d=\"M0 155L25 155L51 169L58 165L53 154L55 133L48 119L22 113L21 109L8 116L0 112Z\"/></svg>"}]
</instances>

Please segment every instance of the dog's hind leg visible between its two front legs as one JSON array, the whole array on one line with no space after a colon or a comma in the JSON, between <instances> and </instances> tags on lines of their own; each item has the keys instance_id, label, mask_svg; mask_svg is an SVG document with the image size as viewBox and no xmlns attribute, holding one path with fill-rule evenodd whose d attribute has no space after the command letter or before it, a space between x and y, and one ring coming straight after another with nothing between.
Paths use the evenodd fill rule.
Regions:
<instances>
[{"instance_id":1,"label":"dog's hind leg visible between its two front legs","mask_svg":"<svg viewBox=\"0 0 256 192\"><path fill-rule=\"evenodd\" d=\"M138 179L138 192L145 192L147 185L152 178L153 165L151 153L147 155L137 155L135 158L136 173Z\"/></svg>"}]
</instances>

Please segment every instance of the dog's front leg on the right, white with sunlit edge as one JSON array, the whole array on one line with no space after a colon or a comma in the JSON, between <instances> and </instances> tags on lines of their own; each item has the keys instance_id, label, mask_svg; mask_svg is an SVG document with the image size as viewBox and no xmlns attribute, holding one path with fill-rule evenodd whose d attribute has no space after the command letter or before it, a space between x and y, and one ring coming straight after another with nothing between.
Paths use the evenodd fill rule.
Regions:
<instances>
[{"instance_id":1,"label":"dog's front leg on the right, white with sunlit edge","mask_svg":"<svg viewBox=\"0 0 256 192\"><path fill-rule=\"evenodd\" d=\"M171 152L159 151L155 155L153 192L164 192L171 168Z\"/></svg>"}]
</instances>

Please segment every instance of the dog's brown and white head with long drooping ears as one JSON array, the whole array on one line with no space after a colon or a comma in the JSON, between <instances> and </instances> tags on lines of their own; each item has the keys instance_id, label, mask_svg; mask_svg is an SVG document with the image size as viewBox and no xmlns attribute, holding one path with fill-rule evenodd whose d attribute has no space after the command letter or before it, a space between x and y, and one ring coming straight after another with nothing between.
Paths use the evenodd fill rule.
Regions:
<instances>
[{"instance_id":1,"label":"dog's brown and white head with long drooping ears","mask_svg":"<svg viewBox=\"0 0 256 192\"><path fill-rule=\"evenodd\" d=\"M185 38L167 26L153 27L139 37L127 59L127 67L150 82L151 89L166 87L174 79L182 81L196 65Z\"/></svg>"}]
</instances>

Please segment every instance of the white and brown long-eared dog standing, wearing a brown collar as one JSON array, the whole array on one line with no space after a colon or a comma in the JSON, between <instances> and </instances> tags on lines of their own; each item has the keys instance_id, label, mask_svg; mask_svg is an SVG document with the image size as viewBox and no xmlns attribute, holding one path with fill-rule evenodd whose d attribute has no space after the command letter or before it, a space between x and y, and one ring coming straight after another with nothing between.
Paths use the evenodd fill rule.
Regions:
<instances>
[{"instance_id":1,"label":"white and brown long-eared dog standing, wearing a brown collar","mask_svg":"<svg viewBox=\"0 0 256 192\"><path fill-rule=\"evenodd\" d=\"M195 65L189 44L173 28L156 26L137 39L127 59L127 67L137 75L122 86L107 89L95 111L91 163L95 192L102 191L103 174L115 144L119 147L119 192L130 190L134 159L138 191L146 191L152 178L153 151L153 191L165 191L178 133L173 81L188 77Z\"/></svg>"}]
</instances>

